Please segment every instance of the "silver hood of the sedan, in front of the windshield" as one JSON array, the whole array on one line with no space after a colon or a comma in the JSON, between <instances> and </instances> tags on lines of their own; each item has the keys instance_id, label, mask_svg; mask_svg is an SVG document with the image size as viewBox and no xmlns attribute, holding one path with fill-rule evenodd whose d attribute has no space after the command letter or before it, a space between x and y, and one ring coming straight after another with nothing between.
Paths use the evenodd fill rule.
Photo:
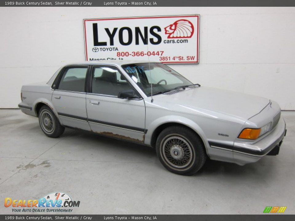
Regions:
<instances>
[{"instance_id":1,"label":"silver hood of the sedan, in front of the windshield","mask_svg":"<svg viewBox=\"0 0 295 221\"><path fill-rule=\"evenodd\" d=\"M157 101L166 103L163 106L171 107L173 111L201 113L217 118L230 115L245 121L262 111L270 102L269 99L254 95L210 87L187 88L171 95L155 95L154 103L157 104Z\"/></svg>"}]
</instances>

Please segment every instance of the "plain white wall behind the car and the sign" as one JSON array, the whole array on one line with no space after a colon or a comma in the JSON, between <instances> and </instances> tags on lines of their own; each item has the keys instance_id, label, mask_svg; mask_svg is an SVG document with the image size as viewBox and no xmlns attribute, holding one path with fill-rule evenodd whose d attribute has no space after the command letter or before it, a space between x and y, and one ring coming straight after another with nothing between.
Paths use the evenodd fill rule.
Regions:
<instances>
[{"instance_id":1,"label":"plain white wall behind the car and the sign","mask_svg":"<svg viewBox=\"0 0 295 221\"><path fill-rule=\"evenodd\" d=\"M0 8L0 108L22 84L85 60L83 18L200 14L200 64L173 64L194 83L259 95L295 110L295 8Z\"/></svg>"}]
</instances>

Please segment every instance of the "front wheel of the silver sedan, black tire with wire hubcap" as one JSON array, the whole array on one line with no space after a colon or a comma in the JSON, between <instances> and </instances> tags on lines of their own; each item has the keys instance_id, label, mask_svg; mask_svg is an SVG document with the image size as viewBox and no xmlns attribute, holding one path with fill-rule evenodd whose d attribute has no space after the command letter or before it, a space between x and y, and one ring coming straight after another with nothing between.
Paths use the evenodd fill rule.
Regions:
<instances>
[{"instance_id":1,"label":"front wheel of the silver sedan, black tire with wire hubcap","mask_svg":"<svg viewBox=\"0 0 295 221\"><path fill-rule=\"evenodd\" d=\"M201 169L207 158L202 139L184 126L164 129L157 138L156 152L166 169L187 176Z\"/></svg>"}]
</instances>

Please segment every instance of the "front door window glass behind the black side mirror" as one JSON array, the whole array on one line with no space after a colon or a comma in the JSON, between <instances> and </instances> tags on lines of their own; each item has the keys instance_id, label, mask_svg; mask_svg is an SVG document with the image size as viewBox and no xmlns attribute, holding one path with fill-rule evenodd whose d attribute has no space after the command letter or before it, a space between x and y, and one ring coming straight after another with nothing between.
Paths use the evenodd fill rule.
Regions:
<instances>
[{"instance_id":1,"label":"front door window glass behind the black side mirror","mask_svg":"<svg viewBox=\"0 0 295 221\"><path fill-rule=\"evenodd\" d=\"M119 92L132 90L125 77L115 68L94 67L92 93L118 96Z\"/></svg>"}]
</instances>

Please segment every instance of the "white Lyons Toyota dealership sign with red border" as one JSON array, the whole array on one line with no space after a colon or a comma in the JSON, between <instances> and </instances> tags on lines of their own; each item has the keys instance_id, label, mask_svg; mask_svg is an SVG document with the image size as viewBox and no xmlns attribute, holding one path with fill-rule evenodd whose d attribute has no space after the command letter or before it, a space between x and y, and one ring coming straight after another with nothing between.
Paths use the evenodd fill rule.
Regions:
<instances>
[{"instance_id":1,"label":"white Lyons Toyota dealership sign with red border","mask_svg":"<svg viewBox=\"0 0 295 221\"><path fill-rule=\"evenodd\" d=\"M199 15L84 19L85 57L199 63Z\"/></svg>"}]
</instances>

